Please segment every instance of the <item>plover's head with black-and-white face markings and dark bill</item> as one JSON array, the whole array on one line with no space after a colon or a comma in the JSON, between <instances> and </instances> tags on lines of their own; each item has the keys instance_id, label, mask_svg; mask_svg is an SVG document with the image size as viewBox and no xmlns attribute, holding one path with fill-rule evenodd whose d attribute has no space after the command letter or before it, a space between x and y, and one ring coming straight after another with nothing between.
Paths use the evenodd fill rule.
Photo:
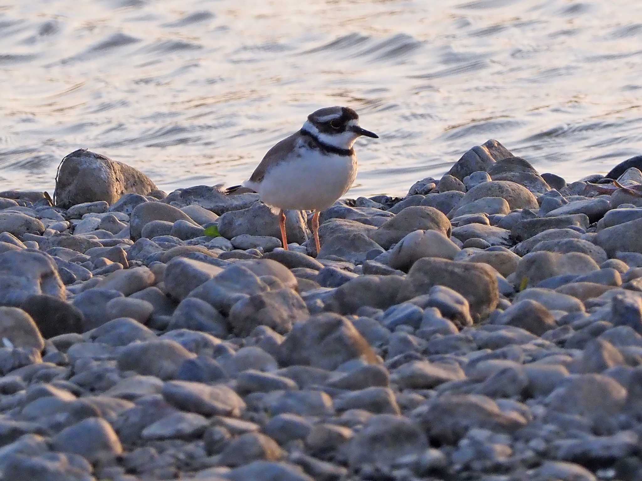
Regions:
<instances>
[{"instance_id":1,"label":"plover's head with black-and-white face markings and dark bill","mask_svg":"<svg viewBox=\"0 0 642 481\"><path fill-rule=\"evenodd\" d=\"M339 149L351 149L354 141L361 135L379 138L376 133L359 126L359 115L354 110L340 106L320 108L312 112L302 130L322 144Z\"/></svg>"}]
</instances>

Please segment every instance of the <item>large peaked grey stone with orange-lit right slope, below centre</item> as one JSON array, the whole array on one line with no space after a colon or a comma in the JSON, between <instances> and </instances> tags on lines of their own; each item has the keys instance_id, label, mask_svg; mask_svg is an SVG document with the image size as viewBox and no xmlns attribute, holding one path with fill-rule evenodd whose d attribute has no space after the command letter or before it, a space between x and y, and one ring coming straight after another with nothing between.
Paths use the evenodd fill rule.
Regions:
<instances>
[{"instance_id":1,"label":"large peaked grey stone with orange-lit right slope, below centre","mask_svg":"<svg viewBox=\"0 0 642 481\"><path fill-rule=\"evenodd\" d=\"M354 325L336 314L313 316L295 325L279 346L279 362L286 366L336 369L351 359L377 362L374 351Z\"/></svg>"}]
</instances>

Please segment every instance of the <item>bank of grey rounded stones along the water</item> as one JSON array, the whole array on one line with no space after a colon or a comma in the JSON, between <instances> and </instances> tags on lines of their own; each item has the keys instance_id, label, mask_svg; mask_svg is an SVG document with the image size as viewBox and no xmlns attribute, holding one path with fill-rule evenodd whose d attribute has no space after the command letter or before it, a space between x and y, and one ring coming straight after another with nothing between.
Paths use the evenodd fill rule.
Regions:
<instances>
[{"instance_id":1,"label":"bank of grey rounded stones along the water","mask_svg":"<svg viewBox=\"0 0 642 481\"><path fill-rule=\"evenodd\" d=\"M0 192L1 479L642 478L642 158L489 140L318 255L254 193L70 158L62 207Z\"/></svg>"}]
</instances>

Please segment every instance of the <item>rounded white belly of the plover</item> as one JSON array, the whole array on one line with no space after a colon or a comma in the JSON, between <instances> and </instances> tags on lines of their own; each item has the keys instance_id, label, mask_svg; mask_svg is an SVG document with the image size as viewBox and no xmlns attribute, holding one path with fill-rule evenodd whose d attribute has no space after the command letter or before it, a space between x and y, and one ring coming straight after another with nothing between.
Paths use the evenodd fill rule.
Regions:
<instances>
[{"instance_id":1,"label":"rounded white belly of the plover","mask_svg":"<svg viewBox=\"0 0 642 481\"><path fill-rule=\"evenodd\" d=\"M350 189L357 173L355 155L306 154L266 173L257 186L263 202L281 209L323 210Z\"/></svg>"}]
</instances>

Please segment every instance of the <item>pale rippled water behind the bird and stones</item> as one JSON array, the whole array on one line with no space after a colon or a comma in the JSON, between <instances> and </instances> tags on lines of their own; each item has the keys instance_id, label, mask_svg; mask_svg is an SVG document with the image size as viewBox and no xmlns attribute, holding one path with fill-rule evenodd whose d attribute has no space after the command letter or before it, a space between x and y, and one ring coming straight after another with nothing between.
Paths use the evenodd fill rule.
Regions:
<instances>
[{"instance_id":1,"label":"pale rippled water behind the bird and stones","mask_svg":"<svg viewBox=\"0 0 642 481\"><path fill-rule=\"evenodd\" d=\"M503 142L575 180L642 151L638 0L3 0L0 187L89 148L165 190L238 183L348 105L351 195L401 194Z\"/></svg>"}]
</instances>

